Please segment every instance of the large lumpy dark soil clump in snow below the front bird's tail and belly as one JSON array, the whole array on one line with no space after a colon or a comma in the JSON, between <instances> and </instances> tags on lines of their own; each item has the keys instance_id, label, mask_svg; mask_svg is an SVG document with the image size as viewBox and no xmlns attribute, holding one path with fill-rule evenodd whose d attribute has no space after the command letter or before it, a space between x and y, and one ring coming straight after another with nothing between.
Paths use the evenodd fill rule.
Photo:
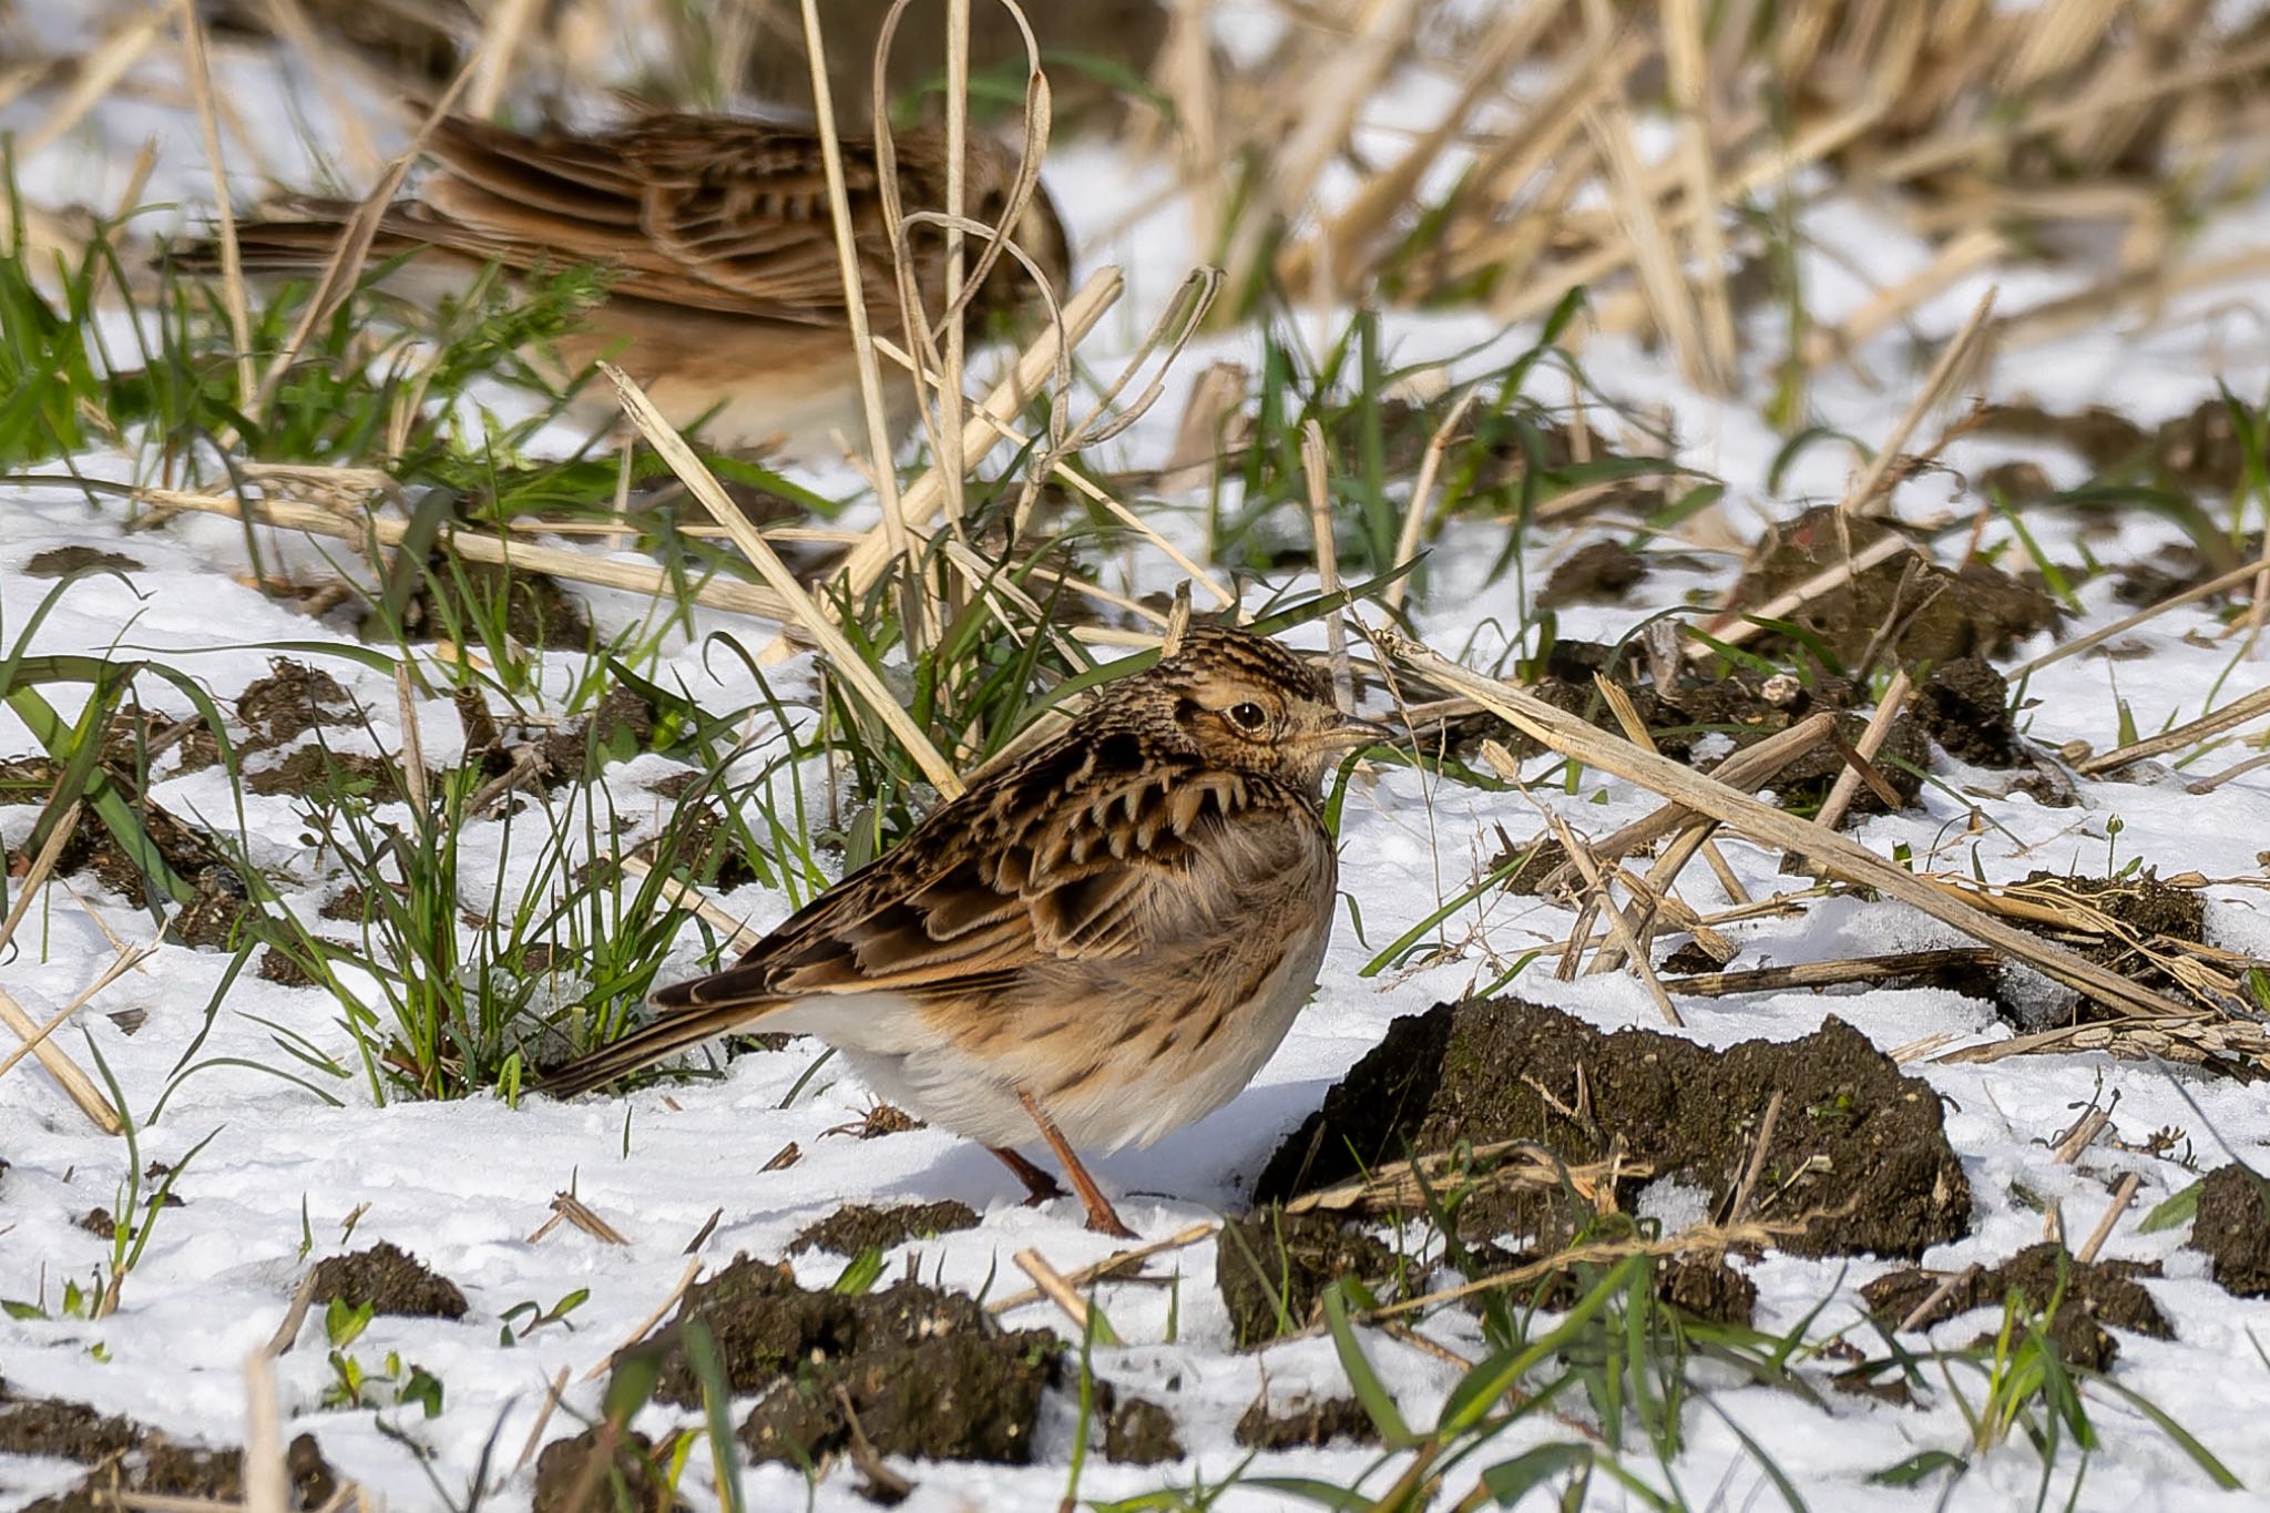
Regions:
<instances>
[{"instance_id":1,"label":"large lumpy dark soil clump in snow below the front bird's tail and belly","mask_svg":"<svg viewBox=\"0 0 2270 1513\"><path fill-rule=\"evenodd\" d=\"M688 1288L663 1336L654 1395L681 1406L701 1402L676 1343L692 1320L711 1332L731 1391L760 1393L742 1445L788 1463L844 1449L849 1406L881 1454L1024 1465L1060 1350L1049 1332L1001 1329L967 1293L917 1282L865 1295L806 1291L783 1268L735 1257Z\"/></svg>"}]
</instances>

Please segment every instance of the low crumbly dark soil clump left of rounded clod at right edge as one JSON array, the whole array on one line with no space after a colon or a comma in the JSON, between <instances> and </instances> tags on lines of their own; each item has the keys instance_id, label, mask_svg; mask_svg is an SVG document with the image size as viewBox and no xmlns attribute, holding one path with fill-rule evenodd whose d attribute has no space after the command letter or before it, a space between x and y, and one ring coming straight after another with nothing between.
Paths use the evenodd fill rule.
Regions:
<instances>
[{"instance_id":1,"label":"low crumbly dark soil clump left of rounded clod at right edge","mask_svg":"<svg viewBox=\"0 0 2270 1513\"><path fill-rule=\"evenodd\" d=\"M2057 1352L2073 1366L2104 1370L2120 1354L2120 1343L2104 1332L2104 1325L2134 1329L2156 1341L2175 1338L2168 1316L2152 1302L2152 1293L2136 1282L2136 1277L2156 1275L2159 1261L2075 1261L2066 1254L2063 1245L2043 1241L2041 1245L2027 1245L2000 1266L1982 1266L1964 1275L1945 1298L1925 1309L1909 1327L1930 1329L1970 1309L2000 1309L2011 1293L2025 1300L2020 1307L2038 1313L2059 1295L2059 1282L2063 1282L2063 1298L2057 1316L2050 1320L2050 1338L2057 1341ZM1895 1329L1943 1282L1945 1277L1941 1275L1909 1268L1877 1277L1859 1295L1884 1327ZM1986 1334L1986 1341L1993 1341L1993 1332Z\"/></svg>"}]
</instances>

